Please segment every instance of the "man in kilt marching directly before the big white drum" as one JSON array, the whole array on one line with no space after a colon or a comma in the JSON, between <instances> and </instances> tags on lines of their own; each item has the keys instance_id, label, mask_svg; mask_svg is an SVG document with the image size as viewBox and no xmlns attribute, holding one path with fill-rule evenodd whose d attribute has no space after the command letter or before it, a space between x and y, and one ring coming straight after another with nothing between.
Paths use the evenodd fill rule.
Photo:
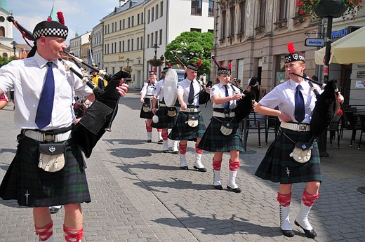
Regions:
<instances>
[{"instance_id":1,"label":"man in kilt marching directly before the big white drum","mask_svg":"<svg viewBox=\"0 0 365 242\"><path fill-rule=\"evenodd\" d=\"M198 93L203 89L197 80L198 66L191 62L187 65L185 72L187 77L178 83L178 102L180 103L180 112L175 126L171 130L168 138L171 140L180 140L180 169L189 170L186 161L187 141L195 141L195 161L193 168L200 172L206 172L201 163L202 149L198 148L201 137L204 135L206 126L204 125L203 116L199 109ZM210 92L210 88L206 88Z\"/></svg>"}]
</instances>

